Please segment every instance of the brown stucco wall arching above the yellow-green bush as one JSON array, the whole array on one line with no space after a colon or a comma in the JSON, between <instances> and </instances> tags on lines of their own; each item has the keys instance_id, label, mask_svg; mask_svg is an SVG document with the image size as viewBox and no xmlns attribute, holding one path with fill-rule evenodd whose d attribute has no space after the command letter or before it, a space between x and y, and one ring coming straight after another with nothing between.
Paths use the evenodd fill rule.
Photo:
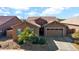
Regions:
<instances>
[{"instance_id":1,"label":"brown stucco wall arching above the yellow-green bush","mask_svg":"<svg viewBox=\"0 0 79 59\"><path fill-rule=\"evenodd\" d=\"M32 24L29 24L29 23L26 23L26 22L23 22L23 23L20 23L18 25L15 25L13 26L13 32L12 32L12 38L14 40L17 40L18 39L18 36L17 36L17 29L21 29L22 31L26 28L26 27L29 27L30 29L32 29L34 31L35 34L39 34L38 32L38 27L36 26L33 26Z\"/></svg>"}]
</instances>

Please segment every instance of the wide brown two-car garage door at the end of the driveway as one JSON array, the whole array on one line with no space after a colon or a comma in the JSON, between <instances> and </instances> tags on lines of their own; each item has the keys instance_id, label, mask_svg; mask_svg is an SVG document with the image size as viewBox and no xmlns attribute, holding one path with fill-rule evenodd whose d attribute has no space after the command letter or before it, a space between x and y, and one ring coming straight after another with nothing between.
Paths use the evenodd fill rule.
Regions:
<instances>
[{"instance_id":1,"label":"wide brown two-car garage door at the end of the driveway","mask_svg":"<svg viewBox=\"0 0 79 59\"><path fill-rule=\"evenodd\" d=\"M47 28L46 29L46 36L50 37L62 37L64 36L63 34L63 28Z\"/></svg>"}]
</instances>

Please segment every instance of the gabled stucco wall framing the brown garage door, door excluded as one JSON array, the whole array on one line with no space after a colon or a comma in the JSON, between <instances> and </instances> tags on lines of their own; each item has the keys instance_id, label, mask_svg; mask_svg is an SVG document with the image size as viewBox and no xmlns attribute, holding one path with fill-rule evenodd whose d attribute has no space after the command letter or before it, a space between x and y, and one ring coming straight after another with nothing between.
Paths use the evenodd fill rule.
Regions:
<instances>
[{"instance_id":1,"label":"gabled stucco wall framing the brown garage door, door excluded","mask_svg":"<svg viewBox=\"0 0 79 59\"><path fill-rule=\"evenodd\" d=\"M64 24L61 24L58 22L52 22L52 23L48 24L47 26L45 26L45 34L47 31L47 28L63 29L63 36L67 35L67 28ZM50 34L52 34L52 32Z\"/></svg>"}]
</instances>

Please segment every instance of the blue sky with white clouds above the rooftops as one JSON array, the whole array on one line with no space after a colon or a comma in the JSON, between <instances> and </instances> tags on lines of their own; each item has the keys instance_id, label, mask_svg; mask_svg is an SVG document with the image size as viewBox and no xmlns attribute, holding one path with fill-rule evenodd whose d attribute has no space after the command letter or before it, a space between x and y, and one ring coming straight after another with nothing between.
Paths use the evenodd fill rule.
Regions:
<instances>
[{"instance_id":1,"label":"blue sky with white clouds above the rooftops","mask_svg":"<svg viewBox=\"0 0 79 59\"><path fill-rule=\"evenodd\" d=\"M79 7L27 7L25 9L0 7L0 16L17 16L22 19L26 19L29 16L69 18L78 15Z\"/></svg>"}]
</instances>

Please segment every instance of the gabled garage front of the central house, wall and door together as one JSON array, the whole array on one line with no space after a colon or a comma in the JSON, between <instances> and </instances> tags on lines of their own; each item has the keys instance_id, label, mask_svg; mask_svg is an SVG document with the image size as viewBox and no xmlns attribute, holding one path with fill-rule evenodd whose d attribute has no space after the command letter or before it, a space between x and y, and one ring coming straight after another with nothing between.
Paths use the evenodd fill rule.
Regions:
<instances>
[{"instance_id":1,"label":"gabled garage front of the central house, wall and door together","mask_svg":"<svg viewBox=\"0 0 79 59\"><path fill-rule=\"evenodd\" d=\"M53 30L47 30L47 29L53 29ZM45 36L54 36L57 34L57 36L66 36L67 27L64 24L61 24L59 22L52 22L45 26Z\"/></svg>"}]
</instances>

